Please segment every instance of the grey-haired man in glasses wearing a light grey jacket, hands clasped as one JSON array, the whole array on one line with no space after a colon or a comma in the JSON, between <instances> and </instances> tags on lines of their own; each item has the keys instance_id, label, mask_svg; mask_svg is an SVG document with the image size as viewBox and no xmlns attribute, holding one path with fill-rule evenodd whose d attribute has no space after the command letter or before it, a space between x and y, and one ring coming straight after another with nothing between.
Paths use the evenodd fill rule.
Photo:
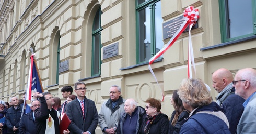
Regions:
<instances>
[{"instance_id":1,"label":"grey-haired man in glasses wearing a light grey jacket, hands clasped","mask_svg":"<svg viewBox=\"0 0 256 134\"><path fill-rule=\"evenodd\" d=\"M118 122L124 112L125 99L121 97L121 88L113 85L109 89L110 98L105 101L99 113L99 125L103 133L117 132Z\"/></svg>"}]
</instances>

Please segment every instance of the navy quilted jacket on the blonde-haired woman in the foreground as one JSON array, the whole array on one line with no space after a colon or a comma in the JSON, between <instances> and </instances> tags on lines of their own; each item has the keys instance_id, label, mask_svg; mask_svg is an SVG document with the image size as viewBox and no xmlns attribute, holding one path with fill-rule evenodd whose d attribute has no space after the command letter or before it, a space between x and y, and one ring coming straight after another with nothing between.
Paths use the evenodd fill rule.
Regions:
<instances>
[{"instance_id":1,"label":"navy quilted jacket on the blonde-haired woman in the foreground","mask_svg":"<svg viewBox=\"0 0 256 134\"><path fill-rule=\"evenodd\" d=\"M180 133L230 133L227 124L219 117L208 113L197 113L200 111L220 111L216 102L196 109L188 121L181 127ZM197 114L196 114L197 113Z\"/></svg>"}]
</instances>

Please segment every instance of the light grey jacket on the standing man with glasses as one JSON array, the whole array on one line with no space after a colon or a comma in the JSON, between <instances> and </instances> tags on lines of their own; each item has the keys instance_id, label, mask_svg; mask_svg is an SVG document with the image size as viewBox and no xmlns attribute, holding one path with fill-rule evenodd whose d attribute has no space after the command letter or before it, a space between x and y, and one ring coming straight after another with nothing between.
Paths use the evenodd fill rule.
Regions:
<instances>
[{"instance_id":1,"label":"light grey jacket on the standing man with glasses","mask_svg":"<svg viewBox=\"0 0 256 134\"><path fill-rule=\"evenodd\" d=\"M103 133L105 133L103 131L105 127L107 128L118 127L119 119L122 113L124 112L124 102L125 102L125 99L123 99L120 96L117 104L114 106L113 109L112 109L111 99L108 99L102 104L99 112L99 125Z\"/></svg>"}]
</instances>

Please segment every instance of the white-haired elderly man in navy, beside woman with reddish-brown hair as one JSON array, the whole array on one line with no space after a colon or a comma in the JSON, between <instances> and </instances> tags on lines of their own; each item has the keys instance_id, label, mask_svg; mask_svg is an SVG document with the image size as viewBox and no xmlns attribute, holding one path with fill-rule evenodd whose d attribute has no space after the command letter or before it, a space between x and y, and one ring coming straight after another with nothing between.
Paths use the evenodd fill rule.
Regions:
<instances>
[{"instance_id":1,"label":"white-haired elderly man in navy, beside woman with reddish-brown hair","mask_svg":"<svg viewBox=\"0 0 256 134\"><path fill-rule=\"evenodd\" d=\"M121 116L118 124L118 133L125 134L139 132L143 115L146 111L141 106L137 106L137 102L134 99L127 99L124 103L124 113Z\"/></svg>"}]
</instances>

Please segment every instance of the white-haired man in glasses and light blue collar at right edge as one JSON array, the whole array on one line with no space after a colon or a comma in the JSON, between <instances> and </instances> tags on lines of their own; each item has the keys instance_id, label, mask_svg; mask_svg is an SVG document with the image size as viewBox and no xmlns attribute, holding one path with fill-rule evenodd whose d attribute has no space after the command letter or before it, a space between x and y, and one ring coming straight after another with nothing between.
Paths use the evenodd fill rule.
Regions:
<instances>
[{"instance_id":1,"label":"white-haired man in glasses and light blue collar at right edge","mask_svg":"<svg viewBox=\"0 0 256 134\"><path fill-rule=\"evenodd\" d=\"M256 133L256 70L246 68L239 70L233 81L236 95L246 99L245 110L237 126L237 133Z\"/></svg>"}]
</instances>

